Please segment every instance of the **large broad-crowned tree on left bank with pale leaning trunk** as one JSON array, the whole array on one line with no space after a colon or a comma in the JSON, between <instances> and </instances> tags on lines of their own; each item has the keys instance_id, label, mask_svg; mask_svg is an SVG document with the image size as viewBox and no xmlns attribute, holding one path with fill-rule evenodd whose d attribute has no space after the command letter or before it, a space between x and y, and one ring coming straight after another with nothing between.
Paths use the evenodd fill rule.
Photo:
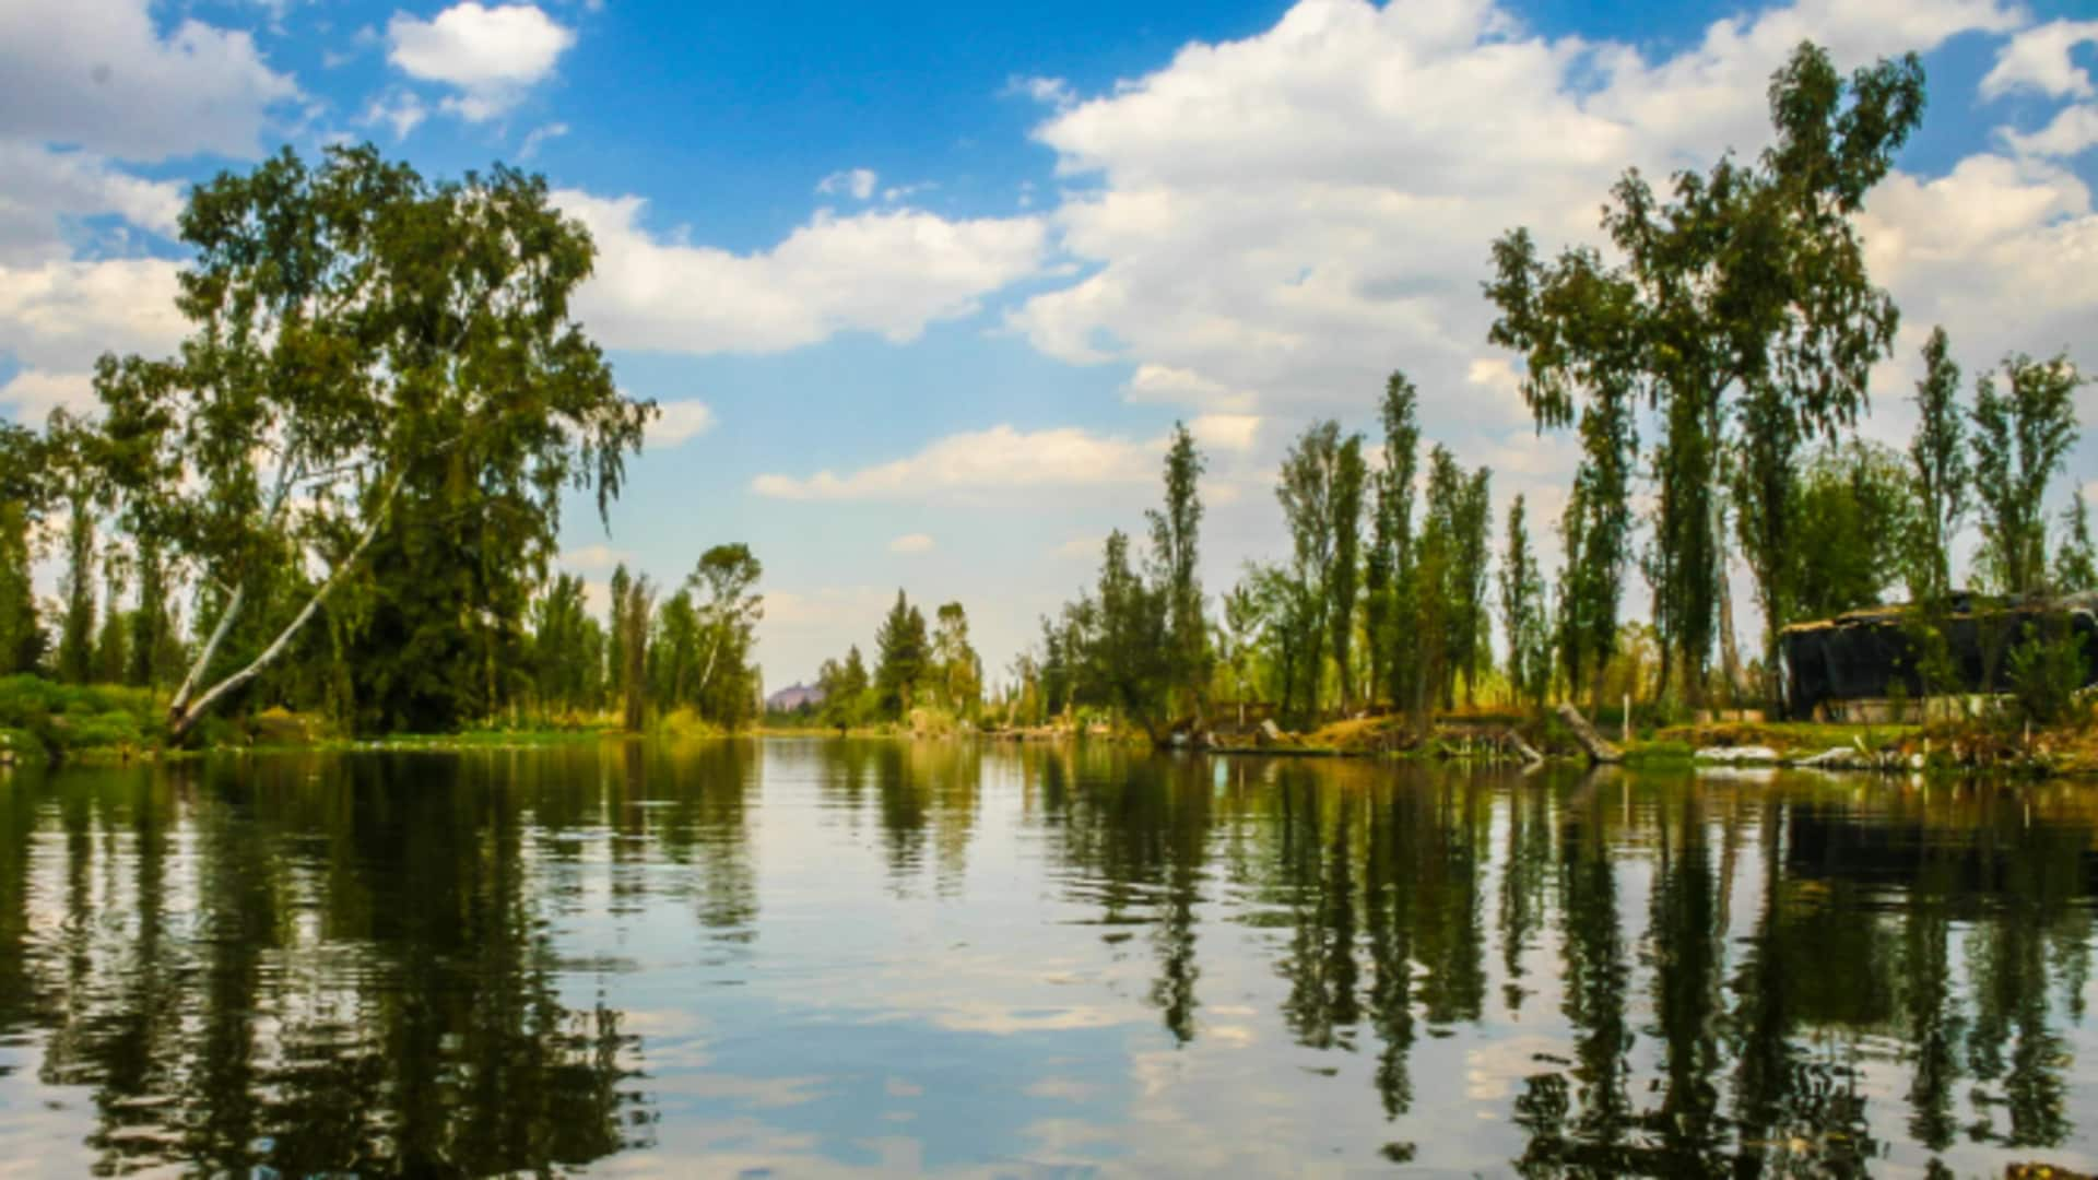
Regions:
<instances>
[{"instance_id":1,"label":"large broad-crowned tree on left bank with pale leaning trunk","mask_svg":"<svg viewBox=\"0 0 2098 1180\"><path fill-rule=\"evenodd\" d=\"M432 183L369 145L319 166L285 149L197 185L180 237L189 338L168 359L105 355L94 378L128 525L214 603L174 733L285 653L405 483L443 493L407 498L403 527L436 527L447 496L501 500L531 559L566 487L594 489L600 519L619 493L655 407L571 317L594 246L543 178ZM260 649L231 653L248 613Z\"/></svg>"}]
</instances>

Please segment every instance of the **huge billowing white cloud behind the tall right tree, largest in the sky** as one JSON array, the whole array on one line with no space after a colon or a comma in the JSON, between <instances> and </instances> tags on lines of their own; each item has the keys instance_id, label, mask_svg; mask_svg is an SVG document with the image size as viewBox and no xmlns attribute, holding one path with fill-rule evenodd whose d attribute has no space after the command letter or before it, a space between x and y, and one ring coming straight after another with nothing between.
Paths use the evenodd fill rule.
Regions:
<instances>
[{"instance_id":1,"label":"huge billowing white cloud behind the tall right tree, largest in the sky","mask_svg":"<svg viewBox=\"0 0 2098 1180\"><path fill-rule=\"evenodd\" d=\"M1431 435L1477 430L1481 393L1515 428L1502 382L1475 380L1496 235L1594 241L1626 166L1756 151L1769 73L1806 36L1848 67L2012 21L1993 0L1800 0L1649 61L1483 0L1305 0L1036 128L1059 174L1097 183L1055 212L1089 267L1009 323L1051 357L1135 363L1131 399L1368 418L1404 367Z\"/></svg>"}]
</instances>

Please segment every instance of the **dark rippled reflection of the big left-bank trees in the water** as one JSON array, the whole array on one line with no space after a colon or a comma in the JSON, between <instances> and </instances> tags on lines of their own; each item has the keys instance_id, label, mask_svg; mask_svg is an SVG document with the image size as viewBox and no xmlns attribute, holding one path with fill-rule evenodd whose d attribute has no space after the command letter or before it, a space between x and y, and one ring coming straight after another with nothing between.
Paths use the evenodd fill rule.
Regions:
<instances>
[{"instance_id":1,"label":"dark rippled reflection of the big left-bank trees in the water","mask_svg":"<svg viewBox=\"0 0 2098 1180\"><path fill-rule=\"evenodd\" d=\"M0 987L52 997L44 1081L92 1088L101 1167L543 1172L646 1132L636 1037L558 995L520 796L470 760L266 766L57 783L57 863L0 861L65 911Z\"/></svg>"}]
</instances>

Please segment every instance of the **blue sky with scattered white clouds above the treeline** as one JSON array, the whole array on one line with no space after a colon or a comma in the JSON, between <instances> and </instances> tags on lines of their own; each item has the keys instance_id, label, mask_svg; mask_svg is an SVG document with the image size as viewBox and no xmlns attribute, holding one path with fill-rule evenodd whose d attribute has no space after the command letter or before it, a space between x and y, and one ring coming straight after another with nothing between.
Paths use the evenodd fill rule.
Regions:
<instances>
[{"instance_id":1,"label":"blue sky with scattered white clouds above the treeline","mask_svg":"<svg viewBox=\"0 0 2098 1180\"><path fill-rule=\"evenodd\" d=\"M1802 38L1930 78L1859 218L1903 309L1863 430L1907 439L1934 323L1968 374L2098 372L2094 0L10 0L0 416L172 351L189 183L344 141L518 164L592 231L577 315L663 407L608 527L566 506L560 565L602 603L621 561L676 584L743 540L768 687L871 651L898 590L961 600L997 680L1141 529L1177 420L1213 590L1286 550L1288 441L1374 435L1393 370L1427 439L1492 466L1496 519L1521 493L1557 521L1576 443L1485 340L1490 241L1599 244L1624 168L1754 155ZM2071 483L2098 496L2088 433Z\"/></svg>"}]
</instances>

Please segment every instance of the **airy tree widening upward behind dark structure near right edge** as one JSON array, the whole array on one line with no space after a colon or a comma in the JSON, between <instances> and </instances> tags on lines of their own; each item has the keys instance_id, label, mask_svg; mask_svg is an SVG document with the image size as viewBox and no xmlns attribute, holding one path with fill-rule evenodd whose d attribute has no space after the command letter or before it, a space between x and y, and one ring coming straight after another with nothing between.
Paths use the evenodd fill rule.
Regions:
<instances>
[{"instance_id":1,"label":"airy tree widening upward behind dark structure near right edge","mask_svg":"<svg viewBox=\"0 0 2098 1180\"><path fill-rule=\"evenodd\" d=\"M2067 355L2004 359L1974 391L1974 500L1981 506L1981 565L2006 594L2027 596L2048 582L2048 481L2077 443L2075 391L2083 376Z\"/></svg>"}]
</instances>

